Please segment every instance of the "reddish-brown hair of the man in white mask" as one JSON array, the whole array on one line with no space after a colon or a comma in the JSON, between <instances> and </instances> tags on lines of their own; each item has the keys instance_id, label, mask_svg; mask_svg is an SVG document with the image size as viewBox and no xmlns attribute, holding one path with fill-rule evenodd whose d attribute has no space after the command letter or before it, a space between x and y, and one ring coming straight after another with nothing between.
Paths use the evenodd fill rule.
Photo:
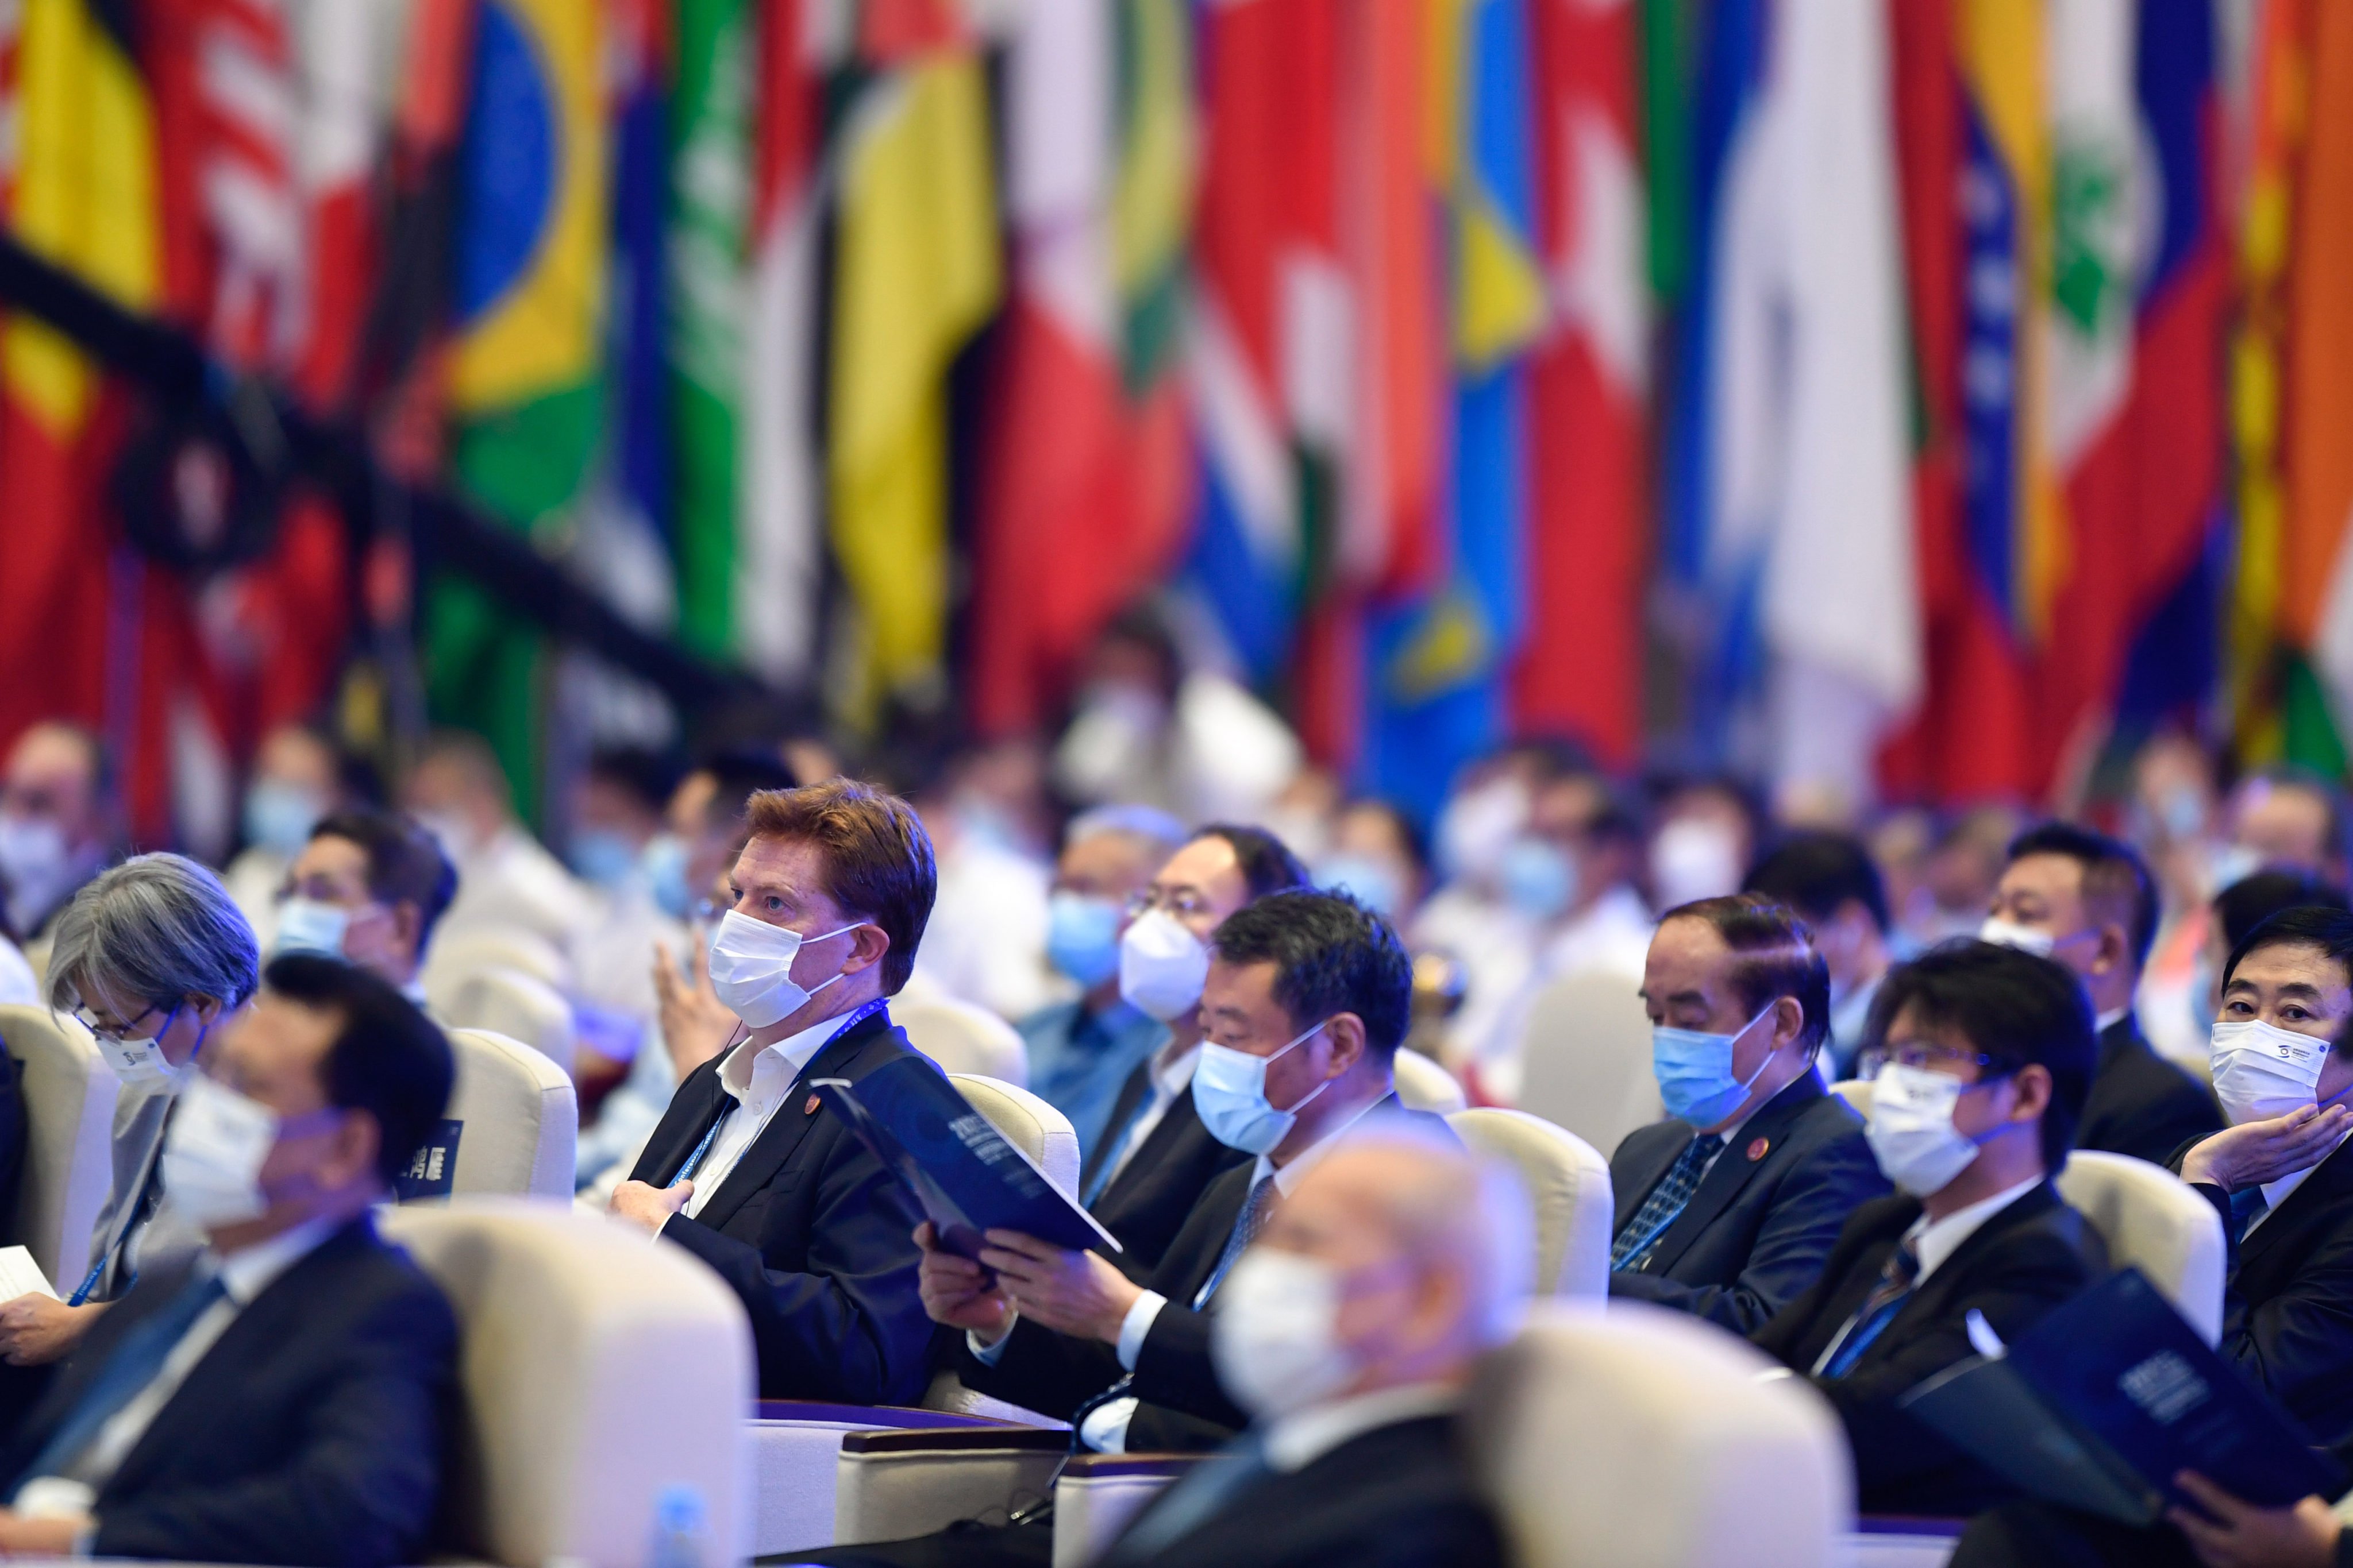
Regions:
<instances>
[{"instance_id":1,"label":"reddish-brown hair of the man in white mask","mask_svg":"<svg viewBox=\"0 0 2353 1568\"><path fill-rule=\"evenodd\" d=\"M826 860L826 896L882 926L882 992L899 994L939 896L932 835L915 809L873 785L828 778L800 790L762 790L744 806L755 839L800 839Z\"/></svg>"}]
</instances>

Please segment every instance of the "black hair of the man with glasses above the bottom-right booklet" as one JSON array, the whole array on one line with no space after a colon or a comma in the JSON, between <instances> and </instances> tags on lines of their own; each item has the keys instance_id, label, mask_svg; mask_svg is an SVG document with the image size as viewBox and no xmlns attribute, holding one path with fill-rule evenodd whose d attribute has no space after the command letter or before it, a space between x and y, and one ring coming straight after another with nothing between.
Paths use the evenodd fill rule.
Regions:
<instances>
[{"instance_id":1,"label":"black hair of the man with glasses above the bottom-right booklet","mask_svg":"<svg viewBox=\"0 0 2353 1568\"><path fill-rule=\"evenodd\" d=\"M1911 964L1897 964L1871 999L1864 1048L1880 1051L1897 1013L1913 1009L1920 1023L1958 1030L1979 1053L1993 1058L1984 1077L2012 1074L2040 1063L2052 1074L2052 1103L2042 1112L2042 1168L2052 1175L2075 1147L2085 1095L2099 1063L2092 1001L2066 964L1974 936L1929 947Z\"/></svg>"}]
</instances>

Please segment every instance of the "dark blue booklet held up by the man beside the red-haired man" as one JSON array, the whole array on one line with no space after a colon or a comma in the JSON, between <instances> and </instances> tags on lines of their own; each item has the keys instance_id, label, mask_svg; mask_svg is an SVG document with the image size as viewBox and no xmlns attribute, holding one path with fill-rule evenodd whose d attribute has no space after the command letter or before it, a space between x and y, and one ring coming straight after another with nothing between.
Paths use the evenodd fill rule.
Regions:
<instances>
[{"instance_id":1,"label":"dark blue booklet held up by the man beside the red-haired man","mask_svg":"<svg viewBox=\"0 0 2353 1568\"><path fill-rule=\"evenodd\" d=\"M809 1079L809 1088L915 1194L951 1253L979 1258L988 1229L1019 1229L1073 1251L1120 1251L929 1060L904 1056L854 1084Z\"/></svg>"}]
</instances>

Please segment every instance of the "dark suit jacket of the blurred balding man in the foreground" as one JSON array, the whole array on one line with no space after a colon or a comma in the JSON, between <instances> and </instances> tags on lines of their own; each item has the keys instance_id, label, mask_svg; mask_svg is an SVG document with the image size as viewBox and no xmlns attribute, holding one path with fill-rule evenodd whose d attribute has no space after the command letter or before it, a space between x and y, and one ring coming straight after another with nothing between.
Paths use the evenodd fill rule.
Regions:
<instances>
[{"instance_id":1,"label":"dark suit jacket of the blurred balding man in the foreground","mask_svg":"<svg viewBox=\"0 0 2353 1568\"><path fill-rule=\"evenodd\" d=\"M1174 1488L1162 1493L1169 1497ZM1136 1516L1136 1526L1151 1509ZM1113 1542L1104 1568L1504 1568L1504 1537L1442 1415L1374 1427L1235 1493L1160 1552Z\"/></svg>"}]
</instances>

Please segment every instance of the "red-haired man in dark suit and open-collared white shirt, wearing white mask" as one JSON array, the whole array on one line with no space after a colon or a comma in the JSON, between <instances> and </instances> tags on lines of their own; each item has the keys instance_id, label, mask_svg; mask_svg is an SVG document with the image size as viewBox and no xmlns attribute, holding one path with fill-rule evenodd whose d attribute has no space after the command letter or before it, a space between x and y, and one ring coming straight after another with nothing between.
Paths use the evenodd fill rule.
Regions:
<instances>
[{"instance_id":1,"label":"red-haired man in dark suit and open-collared white shirt, wearing white mask","mask_svg":"<svg viewBox=\"0 0 2353 1568\"><path fill-rule=\"evenodd\" d=\"M734 1288L765 1399L915 1403L934 1338L922 1215L807 1084L911 1053L885 1001L932 914L932 842L904 799L849 780L753 795L746 823L711 940L744 1032L678 1086L612 1211Z\"/></svg>"}]
</instances>

